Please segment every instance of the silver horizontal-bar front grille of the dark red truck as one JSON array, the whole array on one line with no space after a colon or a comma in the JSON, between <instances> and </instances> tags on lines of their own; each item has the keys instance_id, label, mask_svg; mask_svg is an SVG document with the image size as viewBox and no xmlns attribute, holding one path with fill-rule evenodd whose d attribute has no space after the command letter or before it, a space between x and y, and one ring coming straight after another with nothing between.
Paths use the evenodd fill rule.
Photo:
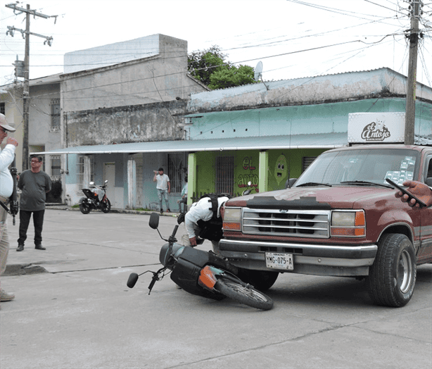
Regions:
<instances>
[{"instance_id":1,"label":"silver horizontal-bar front grille of the dark red truck","mask_svg":"<svg viewBox=\"0 0 432 369\"><path fill-rule=\"evenodd\" d=\"M244 234L329 238L330 211L243 208Z\"/></svg>"}]
</instances>

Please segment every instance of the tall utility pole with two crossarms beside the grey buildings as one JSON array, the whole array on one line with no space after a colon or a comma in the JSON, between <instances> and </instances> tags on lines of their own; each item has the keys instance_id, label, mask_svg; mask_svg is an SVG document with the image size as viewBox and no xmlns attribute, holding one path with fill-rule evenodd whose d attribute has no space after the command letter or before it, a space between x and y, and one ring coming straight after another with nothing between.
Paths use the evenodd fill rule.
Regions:
<instances>
[{"instance_id":1,"label":"tall utility pole with two crossarms beside the grey buildings","mask_svg":"<svg viewBox=\"0 0 432 369\"><path fill-rule=\"evenodd\" d=\"M29 137L29 118L30 118L30 35L43 37L45 38L44 44L48 43L51 46L52 37L46 37L42 35L38 35L37 33L30 32L30 15L34 17L41 18L51 18L55 17L57 20L57 15L45 15L42 13L38 13L37 11L30 10L30 4L27 4L27 8L20 8L16 4L6 4L6 8L13 9L13 13L18 11L18 14L25 13L25 30L19 30L15 27L8 26L8 31L6 35L11 35L13 37L13 32L19 31L23 38L25 38L25 56L24 56L24 84L23 84L23 170L27 170L29 168L29 145L28 145L28 137ZM56 23L56 20L54 23Z\"/></svg>"}]
</instances>

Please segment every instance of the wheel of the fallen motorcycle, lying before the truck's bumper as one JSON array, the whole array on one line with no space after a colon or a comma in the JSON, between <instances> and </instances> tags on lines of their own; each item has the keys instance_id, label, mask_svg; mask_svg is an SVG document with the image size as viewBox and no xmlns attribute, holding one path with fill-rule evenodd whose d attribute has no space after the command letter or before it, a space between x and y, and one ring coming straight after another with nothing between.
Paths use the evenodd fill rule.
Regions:
<instances>
[{"instance_id":1,"label":"wheel of the fallen motorcycle, lying before the truck's bumper","mask_svg":"<svg viewBox=\"0 0 432 369\"><path fill-rule=\"evenodd\" d=\"M273 307L273 300L269 296L253 288L250 284L234 280L234 278L223 275L218 277L215 289L230 299L251 308L270 310Z\"/></svg>"}]
</instances>

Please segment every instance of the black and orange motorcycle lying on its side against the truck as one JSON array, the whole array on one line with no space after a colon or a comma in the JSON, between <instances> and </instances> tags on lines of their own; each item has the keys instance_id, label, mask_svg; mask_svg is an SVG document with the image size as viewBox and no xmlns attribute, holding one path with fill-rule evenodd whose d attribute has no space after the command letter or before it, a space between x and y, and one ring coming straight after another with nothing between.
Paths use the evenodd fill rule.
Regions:
<instances>
[{"instance_id":1,"label":"black and orange motorcycle lying on its side against the truck","mask_svg":"<svg viewBox=\"0 0 432 369\"><path fill-rule=\"evenodd\" d=\"M215 300L221 300L227 296L241 304L260 310L270 310L273 307L273 301L269 296L236 277L238 270L234 265L212 251L177 244L175 234L179 225L175 225L168 239L164 239L158 230L158 213L151 213L149 225L153 230L158 231L160 238L167 244L162 246L159 254L159 261L163 268L157 272L146 270L140 274L153 273L148 285L148 294L151 293L155 282L162 280L170 273L171 280L190 294ZM131 273L127 280L127 287L133 288L138 277L138 274Z\"/></svg>"}]
</instances>

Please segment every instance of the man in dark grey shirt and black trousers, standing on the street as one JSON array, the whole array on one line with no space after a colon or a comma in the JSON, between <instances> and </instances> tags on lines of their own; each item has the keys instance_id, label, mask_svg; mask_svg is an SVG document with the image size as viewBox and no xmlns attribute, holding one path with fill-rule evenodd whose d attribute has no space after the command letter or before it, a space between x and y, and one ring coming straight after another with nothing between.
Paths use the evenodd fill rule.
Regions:
<instances>
[{"instance_id":1,"label":"man in dark grey shirt and black trousers, standing on the street","mask_svg":"<svg viewBox=\"0 0 432 369\"><path fill-rule=\"evenodd\" d=\"M22 190L20 196L20 229L18 248L23 251L24 242L27 239L27 229L33 214L34 248L45 250L42 246L42 226L44 225L46 193L51 191L51 178L42 168L44 158L32 156L30 158L30 170L24 170L18 180L18 188Z\"/></svg>"}]
</instances>

